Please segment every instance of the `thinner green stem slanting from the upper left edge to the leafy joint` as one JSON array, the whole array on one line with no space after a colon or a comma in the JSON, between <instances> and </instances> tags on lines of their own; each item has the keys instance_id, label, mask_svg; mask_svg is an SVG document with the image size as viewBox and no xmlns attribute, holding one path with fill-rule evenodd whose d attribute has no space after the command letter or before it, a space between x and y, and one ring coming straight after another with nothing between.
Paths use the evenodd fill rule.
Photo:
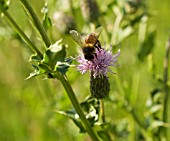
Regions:
<instances>
[{"instance_id":1,"label":"thinner green stem slanting from the upper left edge to the leafy joint","mask_svg":"<svg viewBox=\"0 0 170 141\"><path fill-rule=\"evenodd\" d=\"M9 21L9 23L13 26L13 28L16 30L16 32L23 38L23 40L28 44L28 46L30 47L30 49L37 53L38 56L40 56L41 58L43 57L43 55L41 54L41 52L34 46L34 44L30 41L30 39L26 36L26 34L22 31L22 29L17 25L17 23L14 21L14 19L11 17L11 15L6 11L6 10L2 10L2 12L4 13L4 15L6 16L7 20Z\"/></svg>"}]
</instances>

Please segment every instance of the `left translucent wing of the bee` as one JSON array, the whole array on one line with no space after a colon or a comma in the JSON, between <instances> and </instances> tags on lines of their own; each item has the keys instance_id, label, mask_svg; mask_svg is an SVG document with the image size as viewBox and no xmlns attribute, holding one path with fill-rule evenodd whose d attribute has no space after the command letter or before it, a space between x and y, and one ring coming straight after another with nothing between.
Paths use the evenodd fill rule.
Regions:
<instances>
[{"instance_id":1,"label":"left translucent wing of the bee","mask_svg":"<svg viewBox=\"0 0 170 141\"><path fill-rule=\"evenodd\" d=\"M83 48L83 43L81 41L81 34L78 33L77 31L75 30L71 30L70 31L70 34L72 36L72 38L74 39L74 41L81 47Z\"/></svg>"}]
</instances>

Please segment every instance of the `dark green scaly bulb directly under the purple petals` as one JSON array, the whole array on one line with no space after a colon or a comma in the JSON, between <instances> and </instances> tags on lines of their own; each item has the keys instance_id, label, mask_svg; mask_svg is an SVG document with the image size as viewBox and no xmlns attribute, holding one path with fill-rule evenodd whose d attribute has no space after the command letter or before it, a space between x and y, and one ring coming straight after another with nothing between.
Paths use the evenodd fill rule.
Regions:
<instances>
[{"instance_id":1,"label":"dark green scaly bulb directly under the purple petals","mask_svg":"<svg viewBox=\"0 0 170 141\"><path fill-rule=\"evenodd\" d=\"M90 91L92 96L97 99L103 99L107 97L110 91L110 83L108 77L105 75L94 77L91 73Z\"/></svg>"}]
</instances>

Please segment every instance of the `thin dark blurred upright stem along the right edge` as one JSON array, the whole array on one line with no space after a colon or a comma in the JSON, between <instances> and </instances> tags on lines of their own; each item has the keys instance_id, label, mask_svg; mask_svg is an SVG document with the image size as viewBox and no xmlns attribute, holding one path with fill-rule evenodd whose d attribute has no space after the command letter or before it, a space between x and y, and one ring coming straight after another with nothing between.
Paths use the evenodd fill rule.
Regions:
<instances>
[{"instance_id":1,"label":"thin dark blurred upright stem along the right edge","mask_svg":"<svg viewBox=\"0 0 170 141\"><path fill-rule=\"evenodd\" d=\"M165 59L164 59L164 110L163 110L163 121L165 123L168 122L168 105L170 102L170 97L169 97L169 87L168 87L168 64L169 64L169 53L170 53L170 37L167 42L166 46L166 54L165 54ZM167 138L167 128L164 127L164 136Z\"/></svg>"}]
</instances>

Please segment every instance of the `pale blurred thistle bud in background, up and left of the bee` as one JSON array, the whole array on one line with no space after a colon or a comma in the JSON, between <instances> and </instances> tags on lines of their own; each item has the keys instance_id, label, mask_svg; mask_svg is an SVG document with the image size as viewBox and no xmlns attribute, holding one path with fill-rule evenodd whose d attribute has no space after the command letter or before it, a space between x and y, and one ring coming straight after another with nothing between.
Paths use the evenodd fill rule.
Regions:
<instances>
[{"instance_id":1,"label":"pale blurred thistle bud in background, up and left of the bee","mask_svg":"<svg viewBox=\"0 0 170 141\"><path fill-rule=\"evenodd\" d=\"M66 13L55 12L53 19L57 29L63 34L69 33L71 29L75 29L76 27L73 17Z\"/></svg>"}]
</instances>

